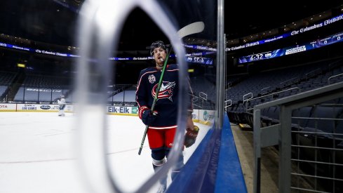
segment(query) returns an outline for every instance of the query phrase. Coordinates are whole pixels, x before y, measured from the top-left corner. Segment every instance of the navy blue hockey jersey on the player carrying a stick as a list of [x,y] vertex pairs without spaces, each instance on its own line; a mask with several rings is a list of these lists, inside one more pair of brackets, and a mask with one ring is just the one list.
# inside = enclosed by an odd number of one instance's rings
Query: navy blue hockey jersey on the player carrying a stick
[[[154,107],[159,115],[149,128],[164,129],[177,126],[178,72],[177,65],[167,65],[166,72],[163,74],[158,100]],[[136,101],[140,109],[138,113],[146,108],[151,109],[160,77],[161,70],[156,69],[156,67],[148,67],[140,72],[136,91]]]

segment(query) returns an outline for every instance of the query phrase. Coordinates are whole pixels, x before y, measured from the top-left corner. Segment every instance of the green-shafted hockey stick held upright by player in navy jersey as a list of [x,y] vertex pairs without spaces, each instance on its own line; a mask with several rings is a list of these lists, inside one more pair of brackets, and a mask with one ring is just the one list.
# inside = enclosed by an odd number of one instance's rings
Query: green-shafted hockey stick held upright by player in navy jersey
[[[177,34],[180,37],[180,39],[182,39],[184,36],[203,32],[204,28],[205,28],[205,25],[203,24],[203,22],[193,22],[189,25],[182,27],[179,31],[177,31]],[[159,91],[160,91],[160,88],[162,85],[163,75],[164,75],[164,72],[166,71],[166,66],[167,66],[167,62],[168,62],[168,58],[169,58],[169,55],[171,53],[171,50],[172,50],[172,47],[170,47],[170,50],[169,50],[167,57],[166,57],[166,60],[163,63],[163,68],[162,68],[161,76],[159,79],[159,84],[157,85],[154,101],[152,102],[152,108],[150,109],[151,112],[154,112],[156,101],[159,98]],[[140,143],[140,149],[138,150],[139,155],[142,152],[142,148],[144,145],[145,137],[147,136],[148,128],[149,128],[149,126],[146,125],[145,130],[144,130],[144,134],[143,134],[143,138],[142,138],[142,142]]]

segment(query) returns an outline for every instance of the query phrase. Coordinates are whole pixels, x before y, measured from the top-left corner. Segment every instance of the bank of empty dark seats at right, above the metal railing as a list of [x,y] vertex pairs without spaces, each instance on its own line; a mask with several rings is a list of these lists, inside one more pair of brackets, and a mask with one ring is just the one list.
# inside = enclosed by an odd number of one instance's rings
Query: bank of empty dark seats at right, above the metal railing
[[[330,64],[334,64],[331,65]],[[338,65],[337,65],[338,64]],[[226,100],[243,102],[246,109],[262,102],[284,98],[296,93],[343,81],[343,61],[276,69],[249,76],[227,89]]]

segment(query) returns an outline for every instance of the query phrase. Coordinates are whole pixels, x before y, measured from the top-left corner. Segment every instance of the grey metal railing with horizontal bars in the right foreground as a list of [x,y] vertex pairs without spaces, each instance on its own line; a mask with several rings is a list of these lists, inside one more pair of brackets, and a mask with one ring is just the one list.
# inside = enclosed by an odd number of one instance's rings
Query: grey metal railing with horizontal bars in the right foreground
[[[334,129],[330,133],[320,131],[320,128],[317,128],[318,124],[315,124],[315,128],[311,130],[292,123],[292,119],[308,119],[308,117],[292,117],[292,112],[295,110],[342,98],[342,96],[343,82],[340,82],[255,105],[253,112],[255,163],[253,192],[261,191],[261,149],[274,145],[278,145],[279,156],[278,192],[287,193],[291,190],[292,192],[339,192],[342,190],[343,176],[339,171],[343,170],[343,147],[338,147],[336,144],[339,142],[339,135],[342,135],[339,133],[342,132],[342,128],[339,128],[339,132]],[[278,124],[262,127],[262,109],[274,106],[280,109]],[[316,121],[323,119],[325,118],[316,117]],[[335,121],[341,119],[342,117]],[[302,143],[300,143],[300,139],[302,139]],[[325,141],[324,139],[327,141],[321,144],[320,142]],[[328,154],[321,154],[322,152],[318,149],[325,149]],[[305,156],[306,153],[307,156]],[[300,167],[303,164],[312,166],[310,172],[303,171],[303,168]],[[330,171],[329,174],[328,171]],[[323,172],[326,175],[323,175]]]

